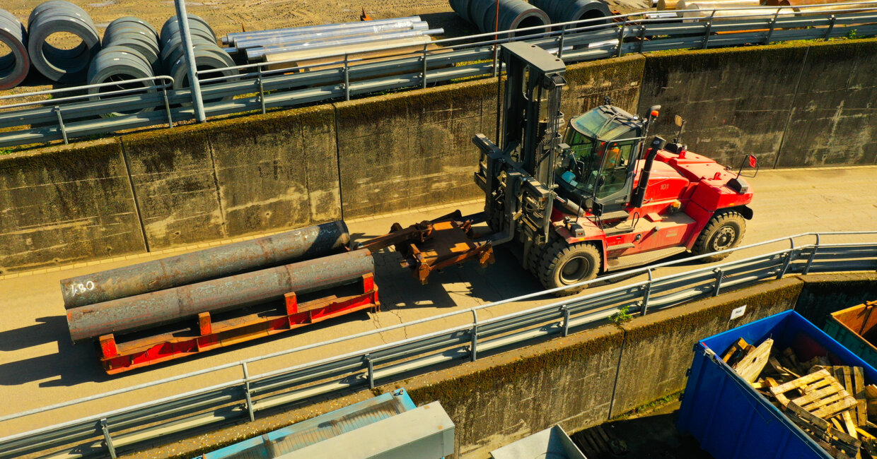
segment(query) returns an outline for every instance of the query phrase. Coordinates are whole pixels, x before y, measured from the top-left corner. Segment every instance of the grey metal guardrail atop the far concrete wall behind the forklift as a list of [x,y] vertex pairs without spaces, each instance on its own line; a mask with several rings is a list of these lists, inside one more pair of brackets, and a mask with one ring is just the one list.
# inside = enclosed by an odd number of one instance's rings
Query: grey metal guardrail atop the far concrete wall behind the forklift
[[[877,34],[877,2],[797,7],[748,7],[718,9],[705,18],[655,18],[652,11],[624,14],[605,19],[586,19],[555,25],[491,32],[454,39],[440,39],[424,45],[417,53],[403,53],[393,59],[350,59],[297,68],[276,69],[284,62],[229,67],[246,74],[217,77],[227,69],[200,71],[204,110],[208,117],[289,107],[311,102],[349,100],[399,88],[425,88],[463,78],[496,76],[497,46],[525,40],[546,48],[567,63],[618,57],[628,53],[769,44],[800,39],[831,39],[851,32],[858,36]],[[727,11],[734,11],[728,14]],[[751,14],[747,11],[764,11]],[[684,12],[684,11],[679,11]],[[695,12],[694,10],[690,12]],[[521,36],[522,34],[528,34]],[[516,36],[517,35],[517,36]],[[432,49],[440,46],[438,49]],[[287,62],[289,63],[289,62]],[[355,64],[355,65],[352,65]],[[161,78],[161,77],[157,77]],[[89,87],[63,89],[84,92]],[[30,93],[0,97],[39,95]],[[153,126],[195,119],[188,88],[165,90],[161,94],[104,93],[100,100],[49,100],[43,106],[0,105],[0,147],[43,143],[53,140]],[[36,104],[36,103],[35,103]],[[123,109],[149,109],[107,117]],[[63,113],[63,117],[61,117]]]

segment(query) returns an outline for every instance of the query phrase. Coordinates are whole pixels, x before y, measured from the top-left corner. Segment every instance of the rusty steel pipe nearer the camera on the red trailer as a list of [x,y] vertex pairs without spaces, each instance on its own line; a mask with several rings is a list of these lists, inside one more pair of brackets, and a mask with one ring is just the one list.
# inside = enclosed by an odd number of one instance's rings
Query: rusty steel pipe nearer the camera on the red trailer
[[73,342],[110,333],[125,333],[194,319],[200,313],[220,313],[281,300],[286,293],[316,292],[353,283],[374,273],[367,250],[282,265],[237,276],[208,280],[68,309]]

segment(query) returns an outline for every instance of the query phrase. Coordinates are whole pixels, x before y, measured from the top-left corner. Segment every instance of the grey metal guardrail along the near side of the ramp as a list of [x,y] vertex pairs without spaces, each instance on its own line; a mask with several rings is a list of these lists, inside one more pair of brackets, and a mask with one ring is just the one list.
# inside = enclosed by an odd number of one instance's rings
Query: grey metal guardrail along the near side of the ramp
[[[48,453],[67,457],[107,454],[115,457],[117,448],[130,447],[162,435],[179,434],[207,426],[219,427],[247,419],[255,420],[256,413],[272,408],[296,406],[339,392],[374,388],[378,381],[389,383],[454,362],[474,361],[479,353],[524,346],[537,338],[566,336],[574,328],[603,321],[613,314],[618,314],[619,311],[645,315],[690,300],[717,296],[731,288],[752,286],[766,279],[781,279],[786,274],[877,270],[877,241],[825,244],[824,237],[832,235],[845,237],[877,235],[877,231],[804,233],[782,237],[724,252],[746,251],[768,244],[788,243],[788,248],[664,277],[656,277],[655,274],[667,266],[688,264],[692,260],[709,255],[683,258],[629,272],[620,272],[582,284],[590,285],[631,277],[637,279],[636,276],[645,279],[607,291],[563,298],[544,306],[498,317],[480,319],[479,313],[487,313],[503,304],[543,296],[559,289],[531,293],[488,305],[317,342],[233,364],[224,364],[152,383],[3,416],[0,417],[0,426],[27,416],[57,413],[65,407],[84,406],[83,404],[119,394],[143,389],[154,390],[184,379],[204,375],[219,378],[220,371],[240,369],[239,377],[222,382],[211,378],[213,385],[210,387],[0,438],[0,458]],[[796,244],[796,239],[802,237],[815,237],[816,240],[813,244]],[[326,349],[332,344],[353,342],[368,335],[384,334],[399,328],[445,320],[452,316],[465,318],[467,315],[472,316],[472,321],[456,327],[306,364],[296,364],[281,370],[250,374],[249,365],[261,360],[287,357],[304,350]]]

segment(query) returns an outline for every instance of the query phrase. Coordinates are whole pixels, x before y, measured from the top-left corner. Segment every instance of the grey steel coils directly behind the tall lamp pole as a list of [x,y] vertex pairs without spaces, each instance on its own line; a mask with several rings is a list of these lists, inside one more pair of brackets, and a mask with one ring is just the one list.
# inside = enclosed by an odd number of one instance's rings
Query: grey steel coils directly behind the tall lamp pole
[[[235,63],[232,57],[217,46],[216,33],[213,32],[207,21],[194,14],[189,14],[188,20],[197,69],[234,67]],[[189,66],[186,62],[186,50],[182,46],[182,34],[176,16],[169,18],[161,26],[160,40],[161,62],[164,64],[165,72],[174,78],[174,88],[189,88]],[[208,74],[205,78],[220,75],[234,76],[235,74],[238,74],[235,70],[225,70],[217,74]]]

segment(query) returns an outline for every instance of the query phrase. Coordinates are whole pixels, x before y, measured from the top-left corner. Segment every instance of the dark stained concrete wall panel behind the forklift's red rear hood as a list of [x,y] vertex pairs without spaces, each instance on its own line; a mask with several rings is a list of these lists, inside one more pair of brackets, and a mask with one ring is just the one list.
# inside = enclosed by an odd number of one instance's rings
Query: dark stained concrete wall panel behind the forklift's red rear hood
[[683,143],[720,164],[736,168],[751,153],[773,166],[806,54],[802,46],[648,54],[638,114],[660,105],[652,133],[667,140],[674,115],[684,117]]

